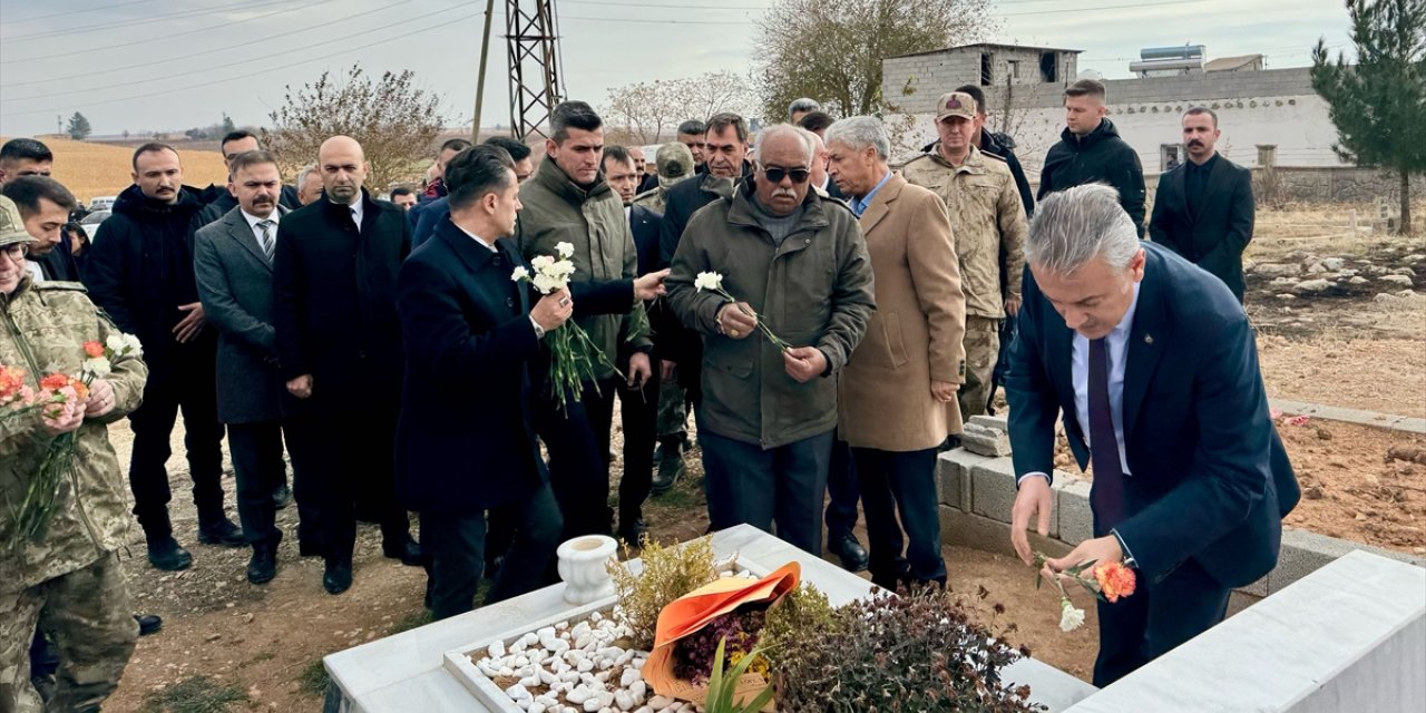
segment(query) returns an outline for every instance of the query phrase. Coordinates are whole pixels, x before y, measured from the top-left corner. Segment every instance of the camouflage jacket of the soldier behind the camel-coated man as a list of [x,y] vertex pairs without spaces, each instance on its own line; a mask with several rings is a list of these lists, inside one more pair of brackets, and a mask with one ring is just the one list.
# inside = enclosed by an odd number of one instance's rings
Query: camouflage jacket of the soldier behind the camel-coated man
[[955,167],[941,157],[937,144],[908,161],[901,175],[945,201],[961,258],[965,314],[1005,317],[1005,299],[1020,297],[1027,232],[1025,208],[1010,167],[975,147]]

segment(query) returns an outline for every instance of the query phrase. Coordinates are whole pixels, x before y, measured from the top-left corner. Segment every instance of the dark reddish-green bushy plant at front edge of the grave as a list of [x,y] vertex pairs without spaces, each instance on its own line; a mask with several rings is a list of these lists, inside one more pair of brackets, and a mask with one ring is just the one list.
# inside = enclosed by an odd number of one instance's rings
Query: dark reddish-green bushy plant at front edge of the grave
[[799,637],[774,669],[779,712],[1044,710],[1028,686],[1001,682],[1020,653],[934,589],[853,602],[833,626]]

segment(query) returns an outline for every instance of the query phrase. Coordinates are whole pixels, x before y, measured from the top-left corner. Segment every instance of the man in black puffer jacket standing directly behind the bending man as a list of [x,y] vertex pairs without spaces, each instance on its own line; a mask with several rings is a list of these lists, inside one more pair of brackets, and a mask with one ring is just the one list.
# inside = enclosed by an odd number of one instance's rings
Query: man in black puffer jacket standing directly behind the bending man
[[1119,191],[1119,205],[1142,238],[1144,167],[1139,154],[1119,138],[1119,131],[1104,114],[1104,84],[1079,80],[1065,90],[1065,130],[1045,154],[1037,198],[1042,201],[1074,185],[1107,183]]

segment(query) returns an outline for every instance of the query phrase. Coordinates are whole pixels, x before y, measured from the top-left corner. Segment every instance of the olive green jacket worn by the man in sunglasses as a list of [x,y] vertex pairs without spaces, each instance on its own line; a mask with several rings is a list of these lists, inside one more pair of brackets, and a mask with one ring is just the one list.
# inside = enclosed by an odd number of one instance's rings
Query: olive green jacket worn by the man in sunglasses
[[[807,191],[801,220],[774,245],[752,205],[753,180],[733,198],[699,208],[683,230],[665,282],[679,319],[703,335],[700,428],[764,449],[831,431],[837,378],[861,342],[876,309],[871,258],[856,215],[838,200]],[[726,301],[699,291],[699,272],[723,275],[723,289],[747,302],[773,334],[793,347],[816,347],[827,372],[799,384],[781,351],[761,332],[724,337],[717,314]]]

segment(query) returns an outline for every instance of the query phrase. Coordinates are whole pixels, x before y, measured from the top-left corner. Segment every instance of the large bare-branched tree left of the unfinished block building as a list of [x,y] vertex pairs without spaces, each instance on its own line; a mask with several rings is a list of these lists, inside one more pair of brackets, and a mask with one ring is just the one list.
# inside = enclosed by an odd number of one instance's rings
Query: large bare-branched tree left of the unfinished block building
[[779,0],[759,21],[754,80],[769,120],[816,98],[836,116],[883,108],[881,60],[971,43],[994,29],[988,0]]

